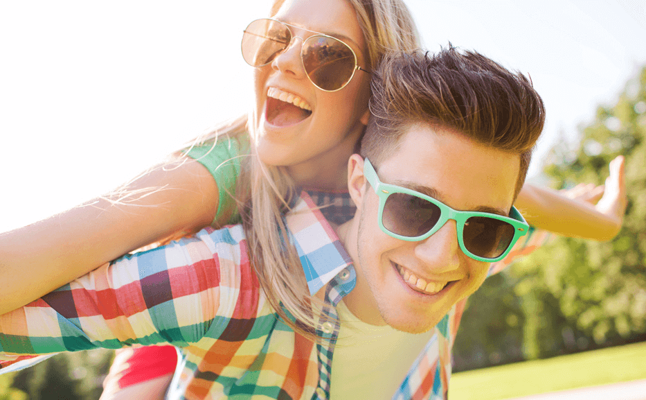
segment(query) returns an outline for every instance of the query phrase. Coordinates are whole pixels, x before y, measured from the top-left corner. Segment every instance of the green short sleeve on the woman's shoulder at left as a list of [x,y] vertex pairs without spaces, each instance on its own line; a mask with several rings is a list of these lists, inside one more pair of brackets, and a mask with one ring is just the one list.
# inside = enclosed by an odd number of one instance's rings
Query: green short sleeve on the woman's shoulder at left
[[[240,159],[237,157],[241,155],[246,146],[237,137],[233,139],[219,139],[216,143],[207,143],[200,146],[195,146],[186,151],[186,155],[195,159],[195,161],[204,165],[208,172],[213,175],[215,184],[217,184],[217,191],[219,193],[219,203],[217,205],[217,214],[213,223],[217,221],[227,207],[233,204],[233,197],[235,195],[235,182],[238,175],[240,175]],[[235,218],[237,211],[231,217]],[[233,221],[228,221],[233,222]]]

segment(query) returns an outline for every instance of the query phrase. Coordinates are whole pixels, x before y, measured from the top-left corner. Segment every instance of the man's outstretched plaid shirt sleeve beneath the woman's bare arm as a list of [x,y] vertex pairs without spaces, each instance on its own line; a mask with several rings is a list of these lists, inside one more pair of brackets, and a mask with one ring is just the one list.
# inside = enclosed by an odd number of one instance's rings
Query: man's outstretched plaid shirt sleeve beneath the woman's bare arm
[[160,342],[183,347],[213,336],[221,329],[209,332],[212,325],[244,307],[237,298],[251,279],[244,249],[239,225],[208,228],[105,264],[0,315],[0,359]]

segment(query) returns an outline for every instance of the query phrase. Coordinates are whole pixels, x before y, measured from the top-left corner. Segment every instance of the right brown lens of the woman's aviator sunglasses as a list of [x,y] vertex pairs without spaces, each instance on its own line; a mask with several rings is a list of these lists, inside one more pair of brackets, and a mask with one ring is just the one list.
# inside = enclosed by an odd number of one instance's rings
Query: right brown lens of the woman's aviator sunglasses
[[309,37],[303,44],[302,57],[309,79],[323,90],[345,86],[357,64],[350,47],[333,37]]

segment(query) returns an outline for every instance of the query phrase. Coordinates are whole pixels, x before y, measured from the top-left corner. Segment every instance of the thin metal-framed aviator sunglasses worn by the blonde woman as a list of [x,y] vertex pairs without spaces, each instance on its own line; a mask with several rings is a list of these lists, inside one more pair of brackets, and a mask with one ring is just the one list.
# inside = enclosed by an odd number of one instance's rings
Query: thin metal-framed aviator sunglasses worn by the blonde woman
[[[357,64],[357,54],[348,44],[336,37],[314,31],[307,39],[294,36],[289,27],[275,19],[256,19],[246,27],[242,34],[242,57],[251,67],[262,67],[273,61],[282,51],[285,51],[294,39],[300,39],[300,60],[307,77],[325,92],[336,92],[343,89],[355,76],[355,71],[366,69]],[[369,72],[368,72],[369,73]]]

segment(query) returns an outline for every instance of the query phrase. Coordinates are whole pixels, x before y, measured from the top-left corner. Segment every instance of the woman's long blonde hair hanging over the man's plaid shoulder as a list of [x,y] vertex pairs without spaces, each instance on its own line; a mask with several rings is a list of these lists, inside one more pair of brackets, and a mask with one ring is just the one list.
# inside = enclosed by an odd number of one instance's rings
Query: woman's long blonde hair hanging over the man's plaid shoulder
[[[366,41],[366,60],[375,67],[388,51],[411,52],[420,46],[415,22],[401,0],[348,0],[357,13]],[[276,15],[285,0],[274,1],[270,15]],[[253,144],[253,127],[242,116],[224,128],[210,132],[201,142],[221,137],[235,138],[251,132],[251,155],[242,162],[235,198],[249,245],[253,269],[267,301],[294,331],[312,340],[318,322],[326,319],[323,304],[309,295],[296,250],[283,239],[282,216],[294,198],[294,182],[287,170],[260,161]]]

